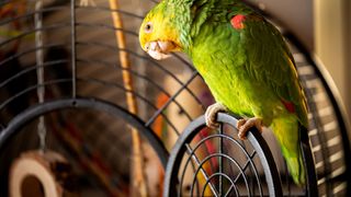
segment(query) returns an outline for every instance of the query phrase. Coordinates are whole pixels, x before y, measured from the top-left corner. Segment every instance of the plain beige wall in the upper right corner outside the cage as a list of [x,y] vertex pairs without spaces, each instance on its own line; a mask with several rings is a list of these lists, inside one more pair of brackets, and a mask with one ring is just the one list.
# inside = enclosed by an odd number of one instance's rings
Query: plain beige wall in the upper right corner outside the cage
[[351,114],[351,3],[349,0],[315,0],[315,51],[330,72]]

